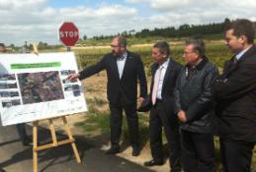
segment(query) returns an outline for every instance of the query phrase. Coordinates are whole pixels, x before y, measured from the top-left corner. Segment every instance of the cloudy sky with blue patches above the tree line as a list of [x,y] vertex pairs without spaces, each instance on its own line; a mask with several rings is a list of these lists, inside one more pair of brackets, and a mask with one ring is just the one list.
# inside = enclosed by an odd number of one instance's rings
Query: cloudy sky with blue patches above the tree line
[[256,21],[255,9],[255,0],[0,0],[0,42],[60,44],[63,22],[73,22],[82,38],[225,18]]

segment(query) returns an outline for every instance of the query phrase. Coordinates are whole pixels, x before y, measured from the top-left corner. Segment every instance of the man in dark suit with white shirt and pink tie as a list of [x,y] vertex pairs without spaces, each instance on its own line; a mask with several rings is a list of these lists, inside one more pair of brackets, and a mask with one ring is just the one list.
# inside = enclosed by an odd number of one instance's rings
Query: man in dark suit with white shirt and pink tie
[[152,81],[150,86],[149,133],[153,159],[144,162],[145,166],[162,165],[164,153],[162,146],[162,127],[169,147],[172,172],[181,171],[179,125],[174,114],[173,88],[181,65],[170,58],[170,47],[165,41],[159,41],[152,48]]

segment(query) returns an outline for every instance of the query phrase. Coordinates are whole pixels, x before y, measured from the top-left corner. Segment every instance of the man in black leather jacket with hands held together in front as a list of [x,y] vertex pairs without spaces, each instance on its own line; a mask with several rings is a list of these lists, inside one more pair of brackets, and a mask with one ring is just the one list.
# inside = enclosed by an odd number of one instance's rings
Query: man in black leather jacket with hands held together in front
[[181,122],[185,172],[213,172],[213,82],[217,69],[205,56],[205,42],[186,40],[187,65],[176,82],[175,112]]

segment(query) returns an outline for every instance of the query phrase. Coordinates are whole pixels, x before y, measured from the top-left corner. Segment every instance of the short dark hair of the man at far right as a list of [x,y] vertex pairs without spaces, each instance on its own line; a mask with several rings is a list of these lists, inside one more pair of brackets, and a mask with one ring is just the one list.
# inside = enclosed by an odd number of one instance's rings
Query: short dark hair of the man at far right
[[248,43],[253,43],[254,40],[254,27],[253,23],[246,19],[239,19],[231,22],[226,26],[225,31],[228,29],[233,29],[233,35],[239,37],[245,35],[247,37]]

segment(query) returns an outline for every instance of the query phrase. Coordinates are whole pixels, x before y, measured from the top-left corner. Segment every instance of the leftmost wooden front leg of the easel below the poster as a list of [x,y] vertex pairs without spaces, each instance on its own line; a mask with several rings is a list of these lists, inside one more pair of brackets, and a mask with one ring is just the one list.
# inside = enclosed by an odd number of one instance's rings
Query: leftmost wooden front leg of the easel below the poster
[[33,167],[34,172],[38,172],[38,125],[39,122],[33,122]]

